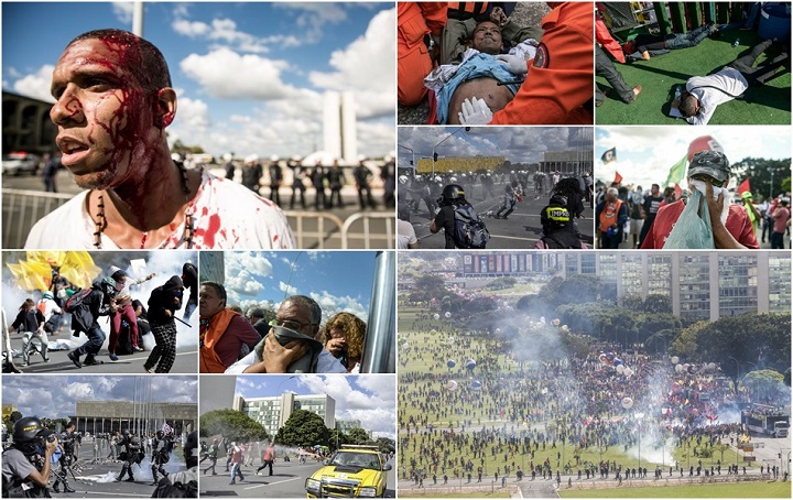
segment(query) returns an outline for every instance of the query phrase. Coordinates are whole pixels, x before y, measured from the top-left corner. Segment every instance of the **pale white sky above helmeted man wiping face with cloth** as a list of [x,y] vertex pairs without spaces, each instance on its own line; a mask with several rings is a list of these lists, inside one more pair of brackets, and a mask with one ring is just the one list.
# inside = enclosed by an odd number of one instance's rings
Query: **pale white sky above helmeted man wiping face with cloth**
[[[598,127],[595,177],[610,184],[615,172],[619,172],[623,184],[649,189],[651,184],[666,181],[670,169],[686,154],[691,141],[702,135],[715,138],[731,163],[750,156],[791,157],[789,127]],[[600,156],[611,148],[617,148],[617,161],[604,165]]]

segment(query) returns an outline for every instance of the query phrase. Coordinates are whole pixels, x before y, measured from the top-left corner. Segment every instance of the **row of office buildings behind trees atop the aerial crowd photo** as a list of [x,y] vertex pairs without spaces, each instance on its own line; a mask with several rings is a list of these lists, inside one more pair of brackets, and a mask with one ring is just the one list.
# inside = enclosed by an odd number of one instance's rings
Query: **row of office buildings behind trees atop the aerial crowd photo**
[[597,275],[617,298],[670,297],[678,316],[716,320],[748,312],[790,313],[791,254],[784,251],[463,252],[457,276]]

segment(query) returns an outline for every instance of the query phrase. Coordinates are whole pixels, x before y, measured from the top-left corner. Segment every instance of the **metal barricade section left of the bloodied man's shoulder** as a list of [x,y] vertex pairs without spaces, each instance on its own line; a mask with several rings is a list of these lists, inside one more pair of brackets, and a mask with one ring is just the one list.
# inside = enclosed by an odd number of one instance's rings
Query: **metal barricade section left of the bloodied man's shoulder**
[[23,248],[36,220],[73,197],[69,194],[41,191],[2,189],[2,248]]

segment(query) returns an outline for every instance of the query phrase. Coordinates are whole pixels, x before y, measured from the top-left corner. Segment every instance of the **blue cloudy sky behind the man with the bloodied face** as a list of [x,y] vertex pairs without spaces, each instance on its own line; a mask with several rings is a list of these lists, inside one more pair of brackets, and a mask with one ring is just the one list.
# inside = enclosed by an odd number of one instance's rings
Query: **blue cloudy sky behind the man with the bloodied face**
[[[393,3],[152,2],[143,19],[180,97],[171,140],[216,155],[307,155],[323,145],[324,93],[354,90],[358,151],[393,151]],[[68,42],[131,20],[130,2],[3,2],[3,89],[52,101]]]

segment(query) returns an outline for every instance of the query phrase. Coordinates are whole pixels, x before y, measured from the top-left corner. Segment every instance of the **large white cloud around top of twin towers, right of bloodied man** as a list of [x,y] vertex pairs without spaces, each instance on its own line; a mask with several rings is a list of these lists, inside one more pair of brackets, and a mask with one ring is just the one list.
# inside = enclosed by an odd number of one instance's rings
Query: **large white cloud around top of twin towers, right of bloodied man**
[[328,90],[352,90],[359,118],[393,115],[395,9],[378,12],[366,33],[330,55],[333,73],[311,72],[312,84]]

